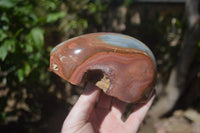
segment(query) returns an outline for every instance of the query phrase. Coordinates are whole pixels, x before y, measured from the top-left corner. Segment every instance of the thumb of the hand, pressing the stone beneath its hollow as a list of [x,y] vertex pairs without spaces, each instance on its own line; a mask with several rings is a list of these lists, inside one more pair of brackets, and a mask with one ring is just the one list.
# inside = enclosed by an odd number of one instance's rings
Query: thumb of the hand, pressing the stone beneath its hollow
[[100,90],[97,87],[87,84],[84,93],[79,97],[78,101],[65,119],[62,133],[69,131],[76,132],[86,124],[94,109],[99,93]]

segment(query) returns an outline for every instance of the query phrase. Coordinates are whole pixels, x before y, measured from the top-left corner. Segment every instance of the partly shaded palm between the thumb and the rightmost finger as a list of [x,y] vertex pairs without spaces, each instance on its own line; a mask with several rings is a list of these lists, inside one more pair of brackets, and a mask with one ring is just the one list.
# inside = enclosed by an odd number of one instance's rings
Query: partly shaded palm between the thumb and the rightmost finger
[[100,101],[89,119],[95,132],[127,132],[128,128],[121,120],[124,107],[125,103],[101,93]]

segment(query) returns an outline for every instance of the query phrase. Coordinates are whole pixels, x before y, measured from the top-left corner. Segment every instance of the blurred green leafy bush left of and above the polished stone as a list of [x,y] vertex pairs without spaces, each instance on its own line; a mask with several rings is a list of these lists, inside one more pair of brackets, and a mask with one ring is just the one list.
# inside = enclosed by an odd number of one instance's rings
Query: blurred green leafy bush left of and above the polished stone
[[[20,110],[32,116],[40,111],[36,99],[52,84],[48,67],[55,44],[49,40],[62,39],[51,32],[77,36],[88,27],[85,14],[98,14],[100,24],[105,9],[99,0],[0,0],[0,123],[10,115],[23,115]],[[10,99],[16,102],[11,107]],[[21,101],[27,107],[17,109]]]

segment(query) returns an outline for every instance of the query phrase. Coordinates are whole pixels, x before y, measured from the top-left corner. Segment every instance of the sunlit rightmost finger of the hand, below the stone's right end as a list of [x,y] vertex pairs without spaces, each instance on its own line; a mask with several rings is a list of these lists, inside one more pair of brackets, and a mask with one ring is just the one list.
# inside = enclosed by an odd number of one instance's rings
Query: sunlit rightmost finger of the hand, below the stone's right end
[[140,109],[134,111],[126,120],[125,125],[131,132],[134,133],[137,132],[141,122],[144,120],[144,117],[147,114],[149,108],[151,107],[154,99],[155,99],[155,94],[146,104],[144,104]]

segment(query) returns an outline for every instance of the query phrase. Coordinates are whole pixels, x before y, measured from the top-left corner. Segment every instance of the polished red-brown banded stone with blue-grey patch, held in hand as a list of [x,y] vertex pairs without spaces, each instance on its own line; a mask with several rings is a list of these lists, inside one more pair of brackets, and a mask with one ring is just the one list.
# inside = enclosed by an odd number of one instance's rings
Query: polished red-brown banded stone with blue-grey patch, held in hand
[[92,33],[57,45],[50,69],[72,84],[92,82],[106,94],[136,103],[153,90],[156,62],[137,39],[116,33]]

